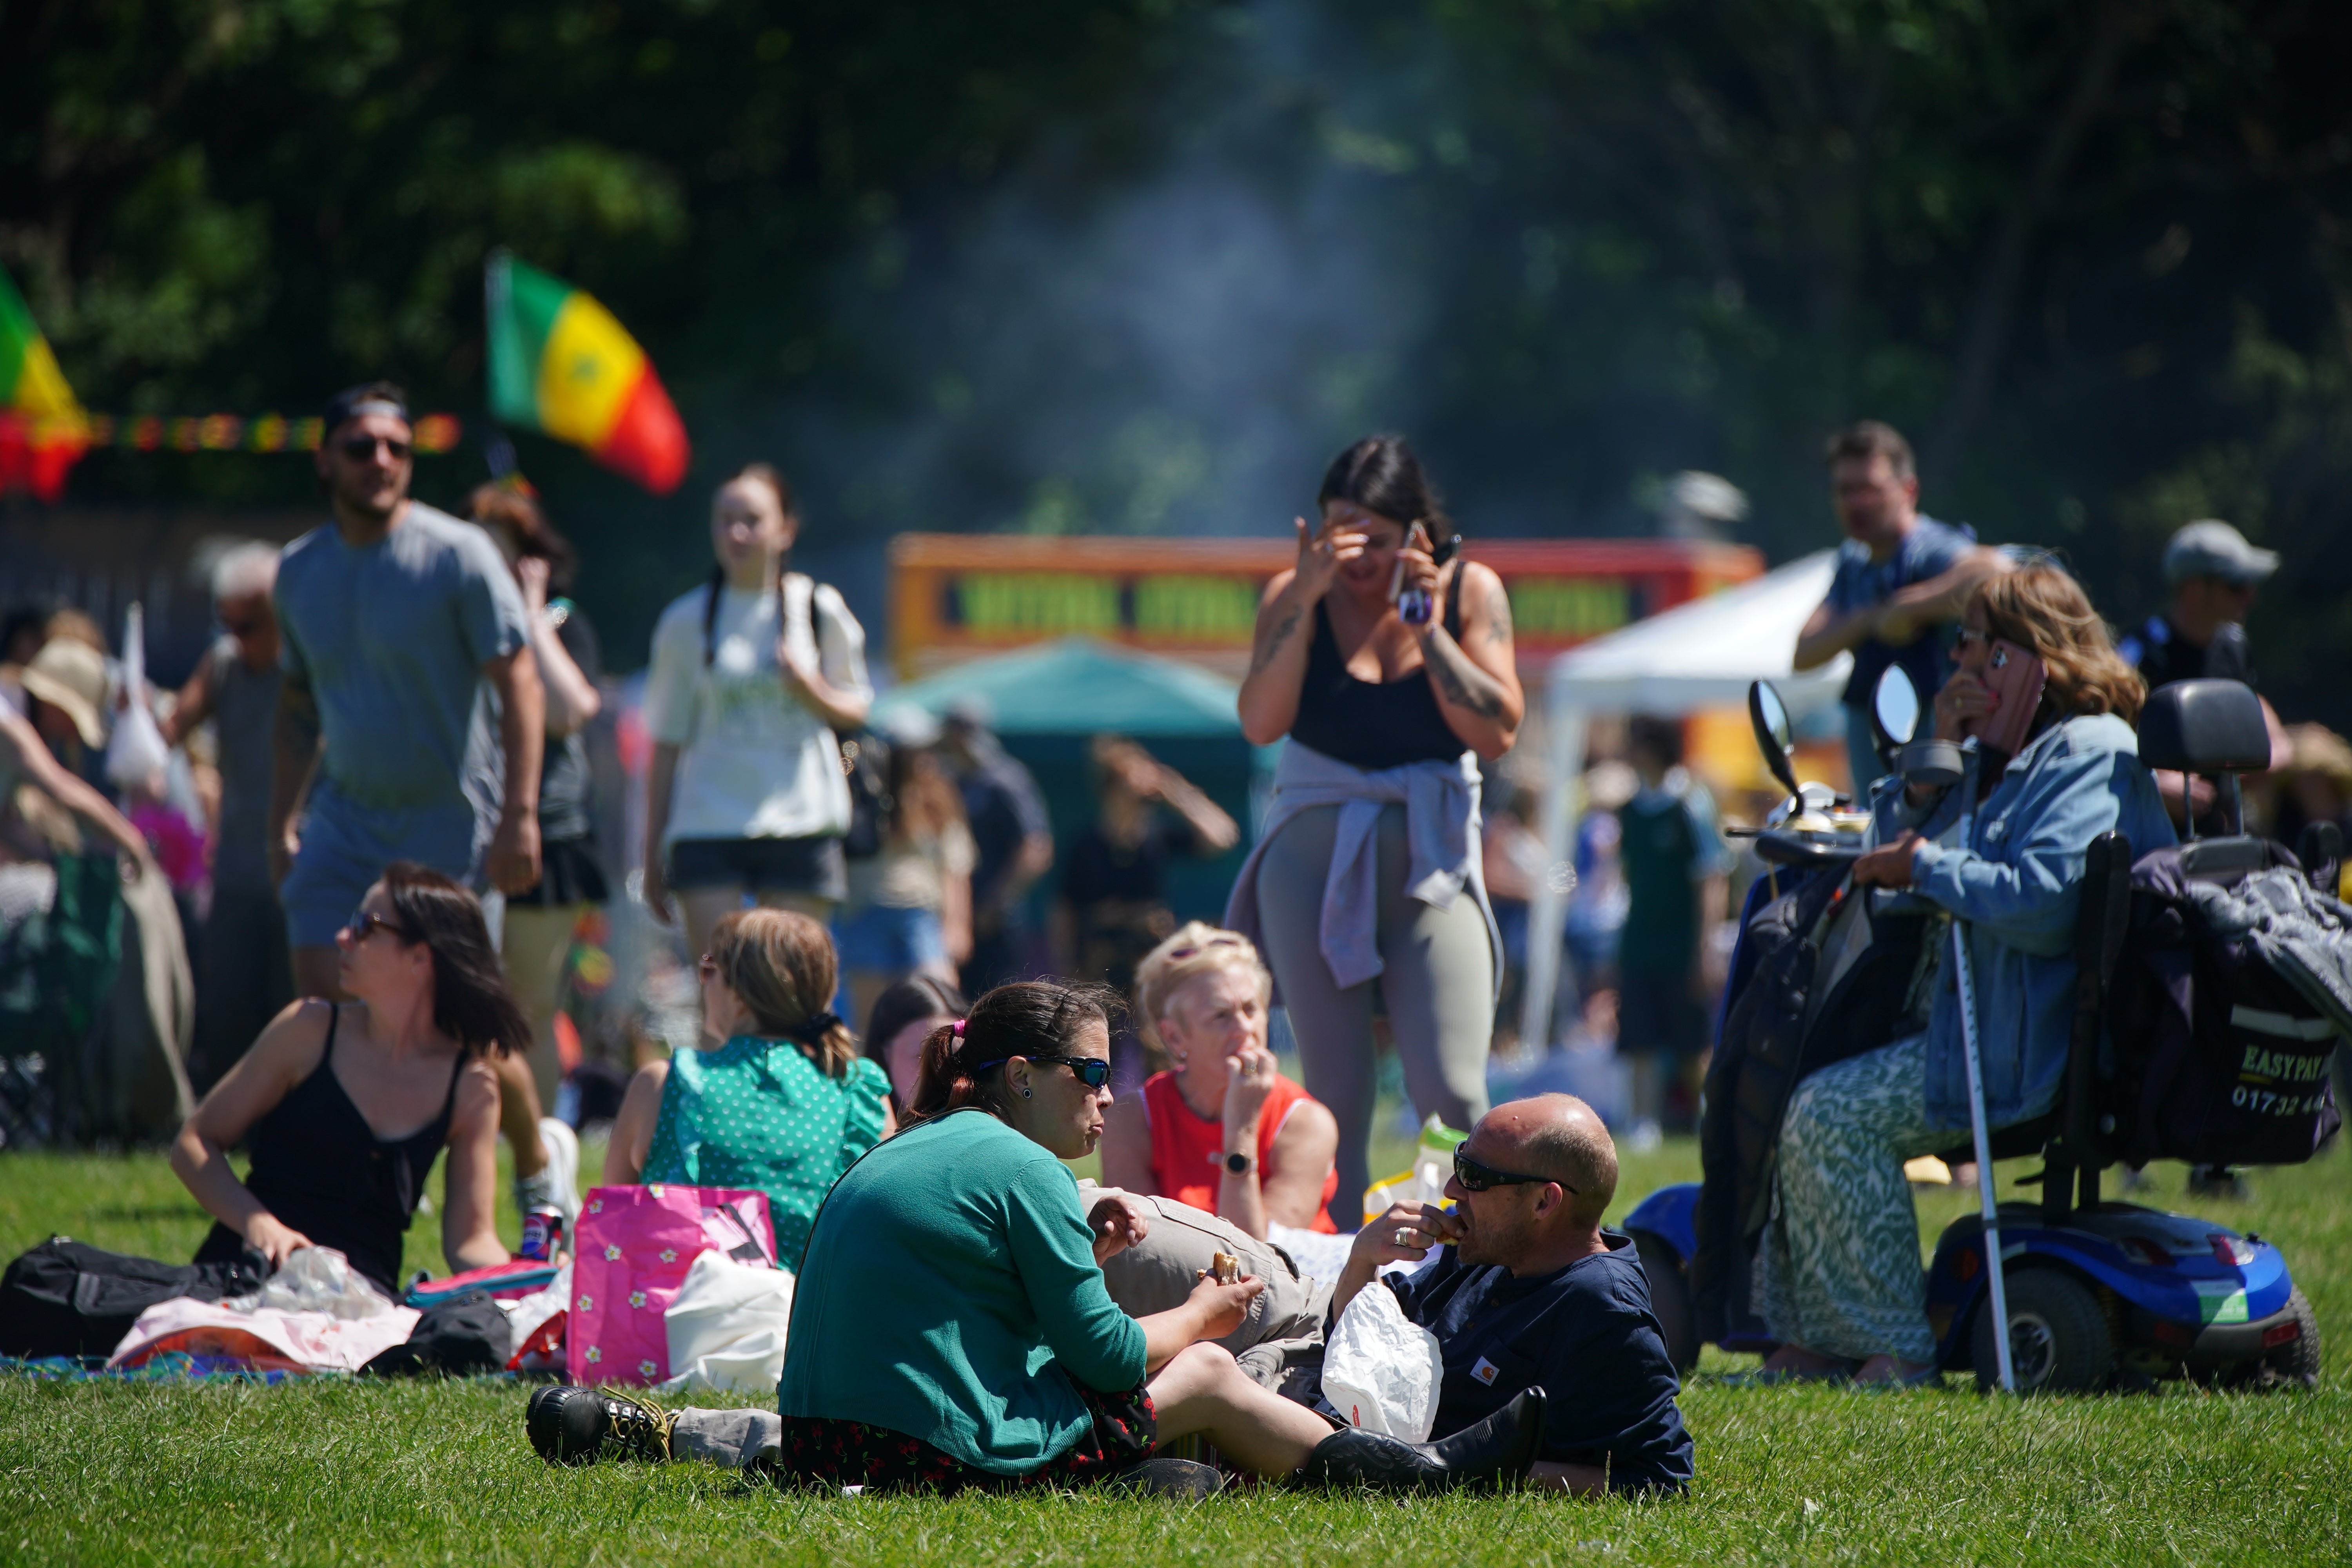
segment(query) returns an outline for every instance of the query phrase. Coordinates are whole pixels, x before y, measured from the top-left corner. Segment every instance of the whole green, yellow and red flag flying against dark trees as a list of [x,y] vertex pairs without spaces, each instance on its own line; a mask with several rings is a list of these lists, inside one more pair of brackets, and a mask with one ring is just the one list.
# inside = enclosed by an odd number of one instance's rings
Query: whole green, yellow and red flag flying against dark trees
[[612,310],[560,277],[489,254],[489,411],[543,430],[656,496],[687,477],[687,428],[654,362]]

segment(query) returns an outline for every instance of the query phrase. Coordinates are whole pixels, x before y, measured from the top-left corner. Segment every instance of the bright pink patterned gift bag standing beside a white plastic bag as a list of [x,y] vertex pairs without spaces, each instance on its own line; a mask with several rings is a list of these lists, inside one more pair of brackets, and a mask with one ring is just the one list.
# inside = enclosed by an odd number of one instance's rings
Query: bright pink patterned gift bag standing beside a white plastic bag
[[581,1385],[670,1375],[663,1314],[706,1251],[776,1265],[764,1192],[731,1187],[590,1187],[572,1239],[564,1378]]

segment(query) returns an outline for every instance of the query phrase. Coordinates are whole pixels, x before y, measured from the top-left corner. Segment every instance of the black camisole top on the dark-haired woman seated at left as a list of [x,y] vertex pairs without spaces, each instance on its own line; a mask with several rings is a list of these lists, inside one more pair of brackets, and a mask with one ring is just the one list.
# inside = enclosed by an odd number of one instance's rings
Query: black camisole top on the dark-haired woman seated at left
[[[456,1074],[466,1070],[466,1056],[459,1053],[449,1067],[449,1093],[437,1117],[407,1138],[376,1138],[334,1077],[334,1030],[343,1009],[329,1006],[318,1067],[245,1135],[254,1154],[245,1187],[282,1225],[343,1253],[350,1267],[397,1300],[400,1241],[433,1159],[449,1143]],[[226,1262],[242,1253],[245,1237],[214,1225],[195,1260]]]

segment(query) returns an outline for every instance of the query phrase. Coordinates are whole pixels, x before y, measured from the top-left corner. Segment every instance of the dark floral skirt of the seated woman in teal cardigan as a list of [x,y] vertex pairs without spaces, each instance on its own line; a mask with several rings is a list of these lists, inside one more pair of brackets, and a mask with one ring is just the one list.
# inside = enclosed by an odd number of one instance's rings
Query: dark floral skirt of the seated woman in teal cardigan
[[1160,1418],[1152,1396],[1138,1382],[1124,1394],[1103,1394],[1073,1380],[1087,1401],[1094,1425],[1077,1443],[1021,1476],[964,1465],[920,1436],[868,1427],[861,1420],[830,1415],[783,1418],[783,1476],[814,1486],[920,1488],[960,1493],[967,1486],[1016,1490],[1025,1486],[1077,1486],[1101,1481],[1152,1458]]

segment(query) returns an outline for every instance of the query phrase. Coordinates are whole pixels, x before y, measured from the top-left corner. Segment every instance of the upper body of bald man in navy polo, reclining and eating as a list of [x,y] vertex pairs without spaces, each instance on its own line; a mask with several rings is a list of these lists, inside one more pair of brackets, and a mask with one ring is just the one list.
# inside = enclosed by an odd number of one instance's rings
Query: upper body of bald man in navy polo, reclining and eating
[[1691,1481],[1691,1434],[1665,1331],[1632,1239],[1602,1229],[1616,1145],[1573,1095],[1496,1105],[1454,1157],[1454,1211],[1397,1204],[1367,1225],[1331,1293],[1331,1321],[1388,1262],[1435,1262],[1383,1284],[1437,1335],[1444,1382],[1432,1439],[1543,1387],[1543,1453],[1529,1486],[1663,1490]]

